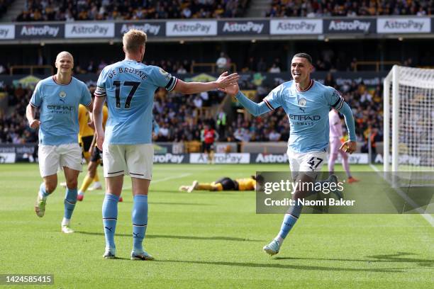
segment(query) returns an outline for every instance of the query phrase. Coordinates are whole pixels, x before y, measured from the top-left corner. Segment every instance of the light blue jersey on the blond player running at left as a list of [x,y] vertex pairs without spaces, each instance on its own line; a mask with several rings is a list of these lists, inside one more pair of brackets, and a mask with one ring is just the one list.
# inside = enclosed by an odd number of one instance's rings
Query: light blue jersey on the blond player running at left
[[38,82],[30,105],[40,108],[40,145],[78,143],[78,108],[91,104],[92,98],[84,82],[72,77],[69,84],[57,84],[54,77]]

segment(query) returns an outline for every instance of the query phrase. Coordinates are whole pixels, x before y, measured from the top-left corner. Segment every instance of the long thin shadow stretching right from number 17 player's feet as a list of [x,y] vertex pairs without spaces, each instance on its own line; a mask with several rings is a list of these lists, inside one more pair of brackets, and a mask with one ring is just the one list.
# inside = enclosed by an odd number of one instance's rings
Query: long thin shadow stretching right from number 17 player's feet
[[347,271],[347,272],[379,272],[379,273],[401,273],[400,268],[337,268],[330,266],[306,266],[306,265],[286,265],[270,263],[248,263],[248,262],[222,262],[222,261],[179,261],[179,260],[155,260],[155,262],[169,263],[193,263],[200,265],[221,265],[221,266],[239,266],[253,268],[277,268],[277,269],[294,269],[294,270],[311,270],[311,271]]

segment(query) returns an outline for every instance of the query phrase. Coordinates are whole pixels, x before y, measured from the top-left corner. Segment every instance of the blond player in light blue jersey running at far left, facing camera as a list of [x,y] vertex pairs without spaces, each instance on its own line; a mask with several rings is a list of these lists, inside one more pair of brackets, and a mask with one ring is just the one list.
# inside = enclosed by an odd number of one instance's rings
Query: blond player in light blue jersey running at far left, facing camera
[[[26,116],[30,128],[39,127],[39,171],[44,182],[36,200],[36,215],[43,217],[47,197],[57,187],[57,169],[62,167],[67,183],[62,232],[68,234],[74,232],[70,220],[77,202],[77,178],[82,171],[78,108],[81,103],[91,111],[92,99],[86,84],[72,77],[74,58],[69,52],[60,52],[55,66],[57,74],[36,85]],[[40,120],[35,119],[36,108],[40,109]]]

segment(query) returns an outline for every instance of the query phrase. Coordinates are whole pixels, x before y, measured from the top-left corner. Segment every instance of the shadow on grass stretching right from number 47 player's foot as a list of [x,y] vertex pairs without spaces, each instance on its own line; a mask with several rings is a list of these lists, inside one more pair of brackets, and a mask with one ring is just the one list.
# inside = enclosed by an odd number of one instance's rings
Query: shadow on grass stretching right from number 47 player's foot
[[370,263],[417,263],[418,266],[432,267],[434,260],[402,258],[401,256],[416,255],[413,253],[398,252],[396,254],[365,256],[367,259],[333,259],[333,258],[298,258],[298,257],[276,257],[275,260],[314,260],[314,261],[351,261]]

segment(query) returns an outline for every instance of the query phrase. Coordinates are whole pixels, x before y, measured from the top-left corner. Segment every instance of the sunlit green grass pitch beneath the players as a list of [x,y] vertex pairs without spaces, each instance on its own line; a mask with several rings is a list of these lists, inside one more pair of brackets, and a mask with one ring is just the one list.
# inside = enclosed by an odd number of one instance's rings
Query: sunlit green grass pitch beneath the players
[[[38,166],[1,164],[0,274],[54,274],[55,284],[43,288],[434,288],[434,229],[421,215],[302,215],[280,253],[270,257],[262,246],[277,234],[282,215],[255,214],[254,192],[177,191],[194,179],[286,169],[155,165],[144,244],[156,260],[130,261],[129,179],[118,205],[119,259],[104,260],[102,191],[88,192],[77,204],[76,232],[65,235],[64,189],[48,198],[39,218],[33,208]],[[369,188],[369,180],[354,186]]]

